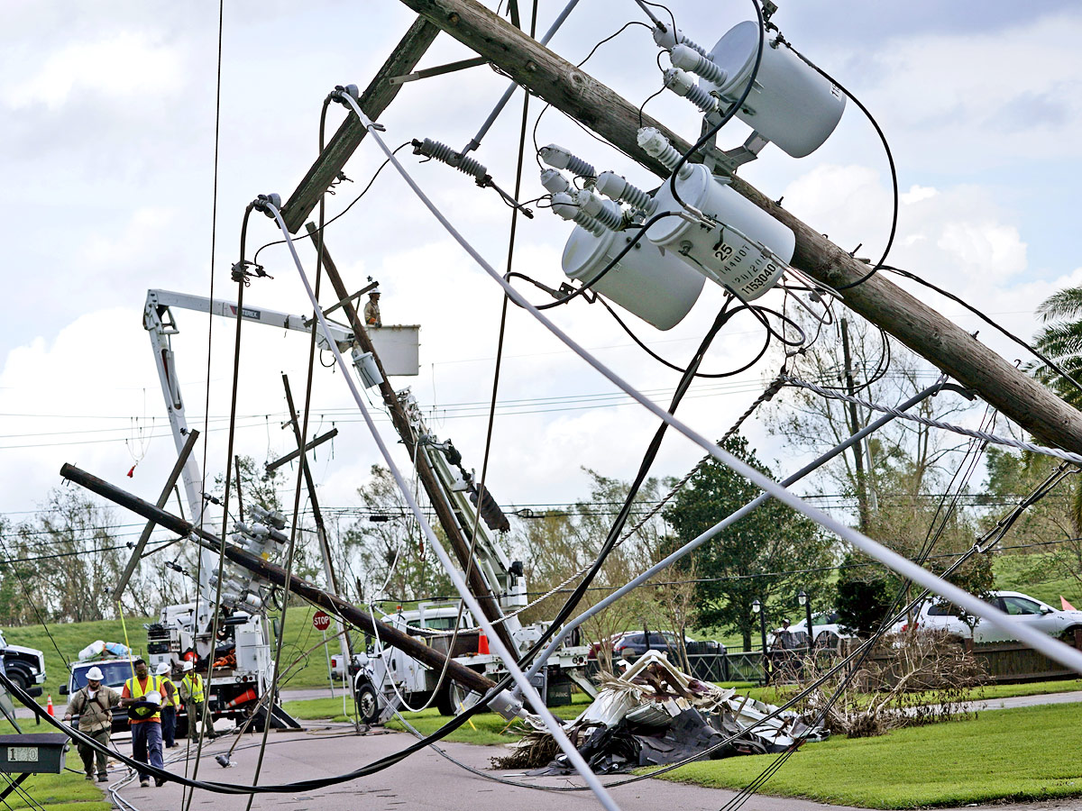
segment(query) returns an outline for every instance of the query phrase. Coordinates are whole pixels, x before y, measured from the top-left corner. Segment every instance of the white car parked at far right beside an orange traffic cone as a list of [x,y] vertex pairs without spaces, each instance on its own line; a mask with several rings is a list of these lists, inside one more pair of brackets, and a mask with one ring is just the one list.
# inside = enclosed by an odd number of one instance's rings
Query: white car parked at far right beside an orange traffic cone
[[[1074,629],[1082,628],[1082,611],[1060,611],[1020,591],[992,591],[989,602],[1008,614],[1014,622],[1053,637],[1073,638]],[[935,598],[921,604],[913,622],[902,620],[895,623],[890,630],[900,634],[912,630],[946,630],[978,643],[1014,639],[1007,631],[979,619],[971,627],[962,619],[958,607]]]

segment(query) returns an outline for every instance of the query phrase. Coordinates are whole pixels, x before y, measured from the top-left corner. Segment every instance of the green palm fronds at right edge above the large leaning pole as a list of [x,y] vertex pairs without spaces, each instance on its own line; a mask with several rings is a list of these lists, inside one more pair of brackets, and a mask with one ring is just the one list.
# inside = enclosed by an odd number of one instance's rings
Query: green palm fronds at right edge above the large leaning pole
[[1033,336],[1034,346],[1070,380],[1047,363],[1027,367],[1034,377],[1074,408],[1082,409],[1082,287],[1053,293],[1037,308],[1045,324]]

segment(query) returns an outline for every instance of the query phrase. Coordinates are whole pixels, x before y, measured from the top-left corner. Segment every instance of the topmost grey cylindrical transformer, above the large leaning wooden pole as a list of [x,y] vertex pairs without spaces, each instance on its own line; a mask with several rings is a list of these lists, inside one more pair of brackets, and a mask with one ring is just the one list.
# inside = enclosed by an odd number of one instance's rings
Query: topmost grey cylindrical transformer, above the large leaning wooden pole
[[[735,102],[748,84],[757,52],[758,25],[740,23],[710,52],[711,61],[728,77],[725,83],[718,87],[705,79],[699,83]],[[804,63],[788,45],[773,48],[767,35],[755,84],[736,116],[786,154],[803,158],[830,137],[844,109],[841,88]]]

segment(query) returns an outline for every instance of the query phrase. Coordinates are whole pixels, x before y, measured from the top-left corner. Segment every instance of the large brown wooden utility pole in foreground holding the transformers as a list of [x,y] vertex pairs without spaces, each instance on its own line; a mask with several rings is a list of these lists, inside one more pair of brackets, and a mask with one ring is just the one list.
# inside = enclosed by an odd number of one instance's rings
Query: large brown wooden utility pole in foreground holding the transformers
[[[669,172],[638,146],[639,125],[657,128],[681,152],[690,149],[691,144],[659,121],[642,115],[635,105],[474,0],[401,2],[659,176],[668,177]],[[793,229],[793,267],[835,289],[858,281],[871,269],[740,177],[734,176],[731,187]],[[884,274],[841,295],[855,313],[976,391],[1041,441],[1082,453],[1082,413]]]

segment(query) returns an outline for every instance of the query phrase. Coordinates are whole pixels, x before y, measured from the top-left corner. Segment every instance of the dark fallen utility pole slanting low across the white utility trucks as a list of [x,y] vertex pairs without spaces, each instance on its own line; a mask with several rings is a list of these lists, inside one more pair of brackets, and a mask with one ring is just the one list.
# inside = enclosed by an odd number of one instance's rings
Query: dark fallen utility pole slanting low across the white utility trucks
[[308,602],[327,609],[327,611],[342,617],[351,625],[356,626],[359,630],[370,636],[378,635],[384,643],[405,651],[428,667],[434,669],[446,667],[447,677],[469,690],[484,694],[496,687],[493,681],[485,678],[479,673],[460,665],[453,659],[448,661],[444,654],[428,647],[421,639],[411,637],[398,630],[393,625],[374,623],[368,612],[346,602],[341,597],[329,594],[315,584],[298,577],[295,574],[287,575],[286,570],[280,566],[263,560],[263,558],[251,555],[232,544],[222,543],[222,540],[217,535],[188,523],[183,518],[177,518],[171,513],[167,513],[150,504],[150,502],[144,501],[126,490],[121,490],[104,479],[100,479],[85,470],[67,464],[61,467],[61,476],[122,507],[127,507],[148,521],[154,521],[171,532],[175,532],[182,536],[190,535],[200,546],[211,551],[223,553],[234,563],[242,566],[245,569],[254,572],[277,586],[281,586],[287,593],[299,595]]

